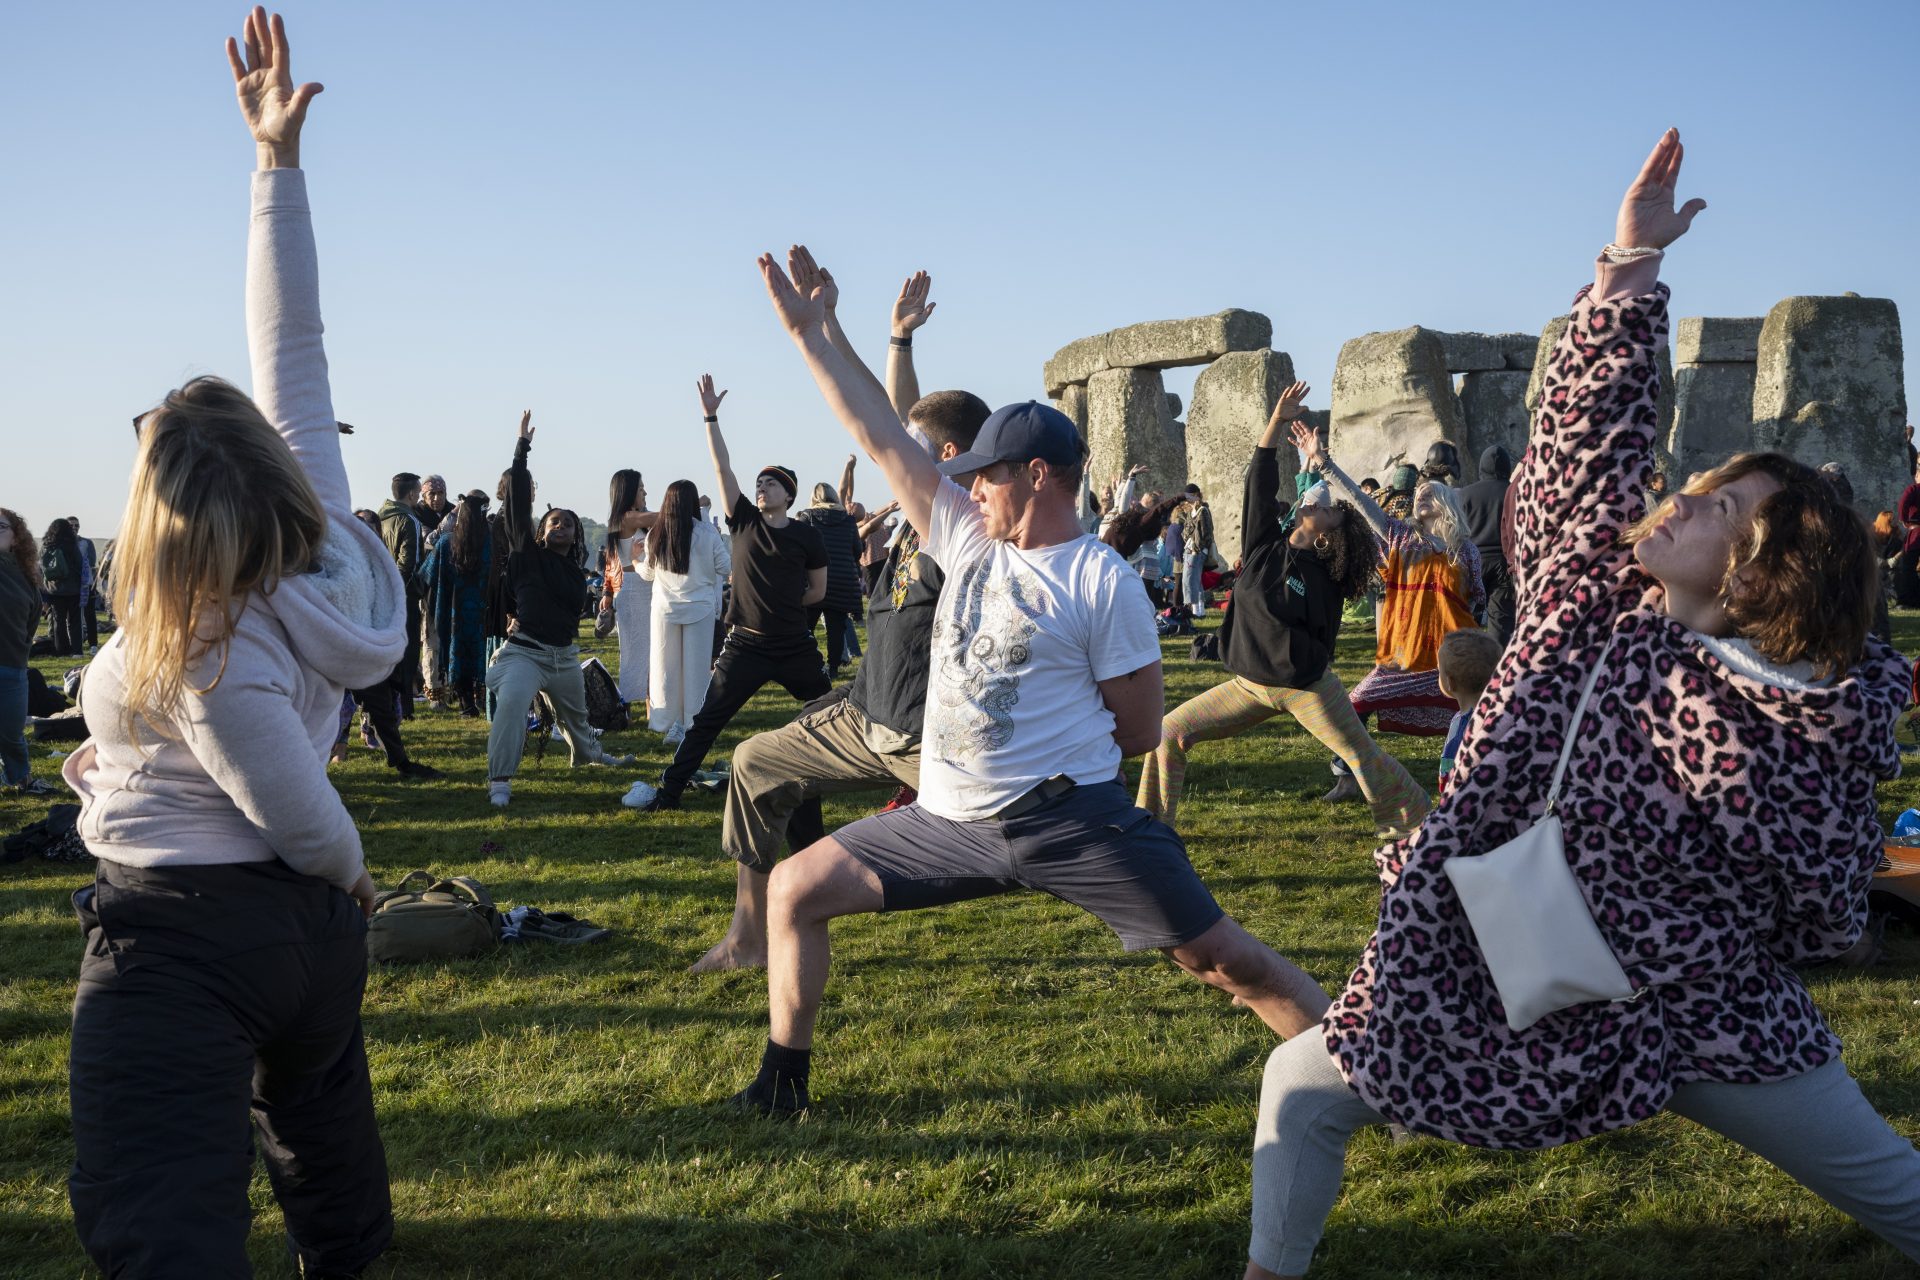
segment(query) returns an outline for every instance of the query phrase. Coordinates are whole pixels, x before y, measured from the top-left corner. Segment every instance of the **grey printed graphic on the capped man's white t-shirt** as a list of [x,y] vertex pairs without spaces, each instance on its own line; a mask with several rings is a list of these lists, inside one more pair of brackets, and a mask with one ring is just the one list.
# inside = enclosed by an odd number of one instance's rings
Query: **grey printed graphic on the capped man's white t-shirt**
[[1020,677],[1033,660],[1037,620],[1050,610],[1029,568],[995,581],[987,560],[968,564],[933,620],[933,681],[925,739],[962,762],[1014,741]]

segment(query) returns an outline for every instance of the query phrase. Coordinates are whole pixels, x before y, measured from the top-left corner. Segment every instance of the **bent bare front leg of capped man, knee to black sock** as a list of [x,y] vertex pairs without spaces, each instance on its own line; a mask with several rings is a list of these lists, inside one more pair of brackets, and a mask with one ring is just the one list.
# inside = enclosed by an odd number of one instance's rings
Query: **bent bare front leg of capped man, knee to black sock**
[[831,837],[774,867],[766,898],[766,1002],[774,1044],[789,1050],[814,1044],[814,1019],[828,988],[828,921],[877,912],[883,904],[879,877]]

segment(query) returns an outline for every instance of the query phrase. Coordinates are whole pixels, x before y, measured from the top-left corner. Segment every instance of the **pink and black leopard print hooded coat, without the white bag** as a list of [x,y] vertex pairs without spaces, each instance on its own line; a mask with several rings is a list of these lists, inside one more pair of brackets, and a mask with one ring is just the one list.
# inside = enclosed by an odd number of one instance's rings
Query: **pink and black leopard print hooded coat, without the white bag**
[[[1444,802],[1375,854],[1379,925],[1323,1023],[1354,1092],[1455,1142],[1557,1146],[1644,1121],[1688,1080],[1774,1080],[1839,1055],[1788,965],[1860,935],[1907,668],[1870,641],[1841,679],[1795,693],[1661,612],[1620,545],[1653,464],[1667,286],[1651,288],[1574,299],[1515,476],[1513,643]],[[1609,635],[1561,816],[1588,906],[1645,990],[1515,1032],[1440,864],[1538,821]]]

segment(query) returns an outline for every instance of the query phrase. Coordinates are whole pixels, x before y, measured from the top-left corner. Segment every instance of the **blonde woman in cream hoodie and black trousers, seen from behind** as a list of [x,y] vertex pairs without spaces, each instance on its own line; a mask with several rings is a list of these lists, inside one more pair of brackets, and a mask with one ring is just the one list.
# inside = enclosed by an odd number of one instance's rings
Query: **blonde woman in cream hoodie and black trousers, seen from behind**
[[73,1000],[81,1244],[108,1274],[244,1276],[252,1140],[305,1274],[394,1232],[361,1040],[372,879],[326,781],[346,689],[405,651],[405,595],[353,518],[326,384],[286,31],[227,42],[253,134],[257,399],[196,378],[140,420],[115,547],[121,629],[67,758],[100,860]]

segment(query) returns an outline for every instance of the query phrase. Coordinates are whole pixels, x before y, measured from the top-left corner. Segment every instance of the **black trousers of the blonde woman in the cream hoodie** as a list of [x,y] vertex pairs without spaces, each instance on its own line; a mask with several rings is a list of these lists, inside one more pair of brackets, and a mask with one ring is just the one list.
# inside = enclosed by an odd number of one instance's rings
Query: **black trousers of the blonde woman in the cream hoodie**
[[394,1236],[361,992],[367,921],[280,862],[123,867],[73,894],[73,1224],[108,1276],[250,1276],[259,1134],[288,1249],[357,1272]]

